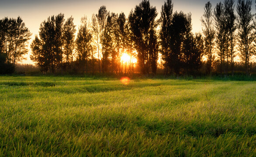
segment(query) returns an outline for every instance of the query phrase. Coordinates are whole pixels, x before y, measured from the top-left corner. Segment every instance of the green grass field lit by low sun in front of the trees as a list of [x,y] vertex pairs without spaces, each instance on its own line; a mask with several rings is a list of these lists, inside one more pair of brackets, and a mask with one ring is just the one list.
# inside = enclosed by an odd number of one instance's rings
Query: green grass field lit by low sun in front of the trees
[[256,82],[0,76],[2,156],[256,156]]

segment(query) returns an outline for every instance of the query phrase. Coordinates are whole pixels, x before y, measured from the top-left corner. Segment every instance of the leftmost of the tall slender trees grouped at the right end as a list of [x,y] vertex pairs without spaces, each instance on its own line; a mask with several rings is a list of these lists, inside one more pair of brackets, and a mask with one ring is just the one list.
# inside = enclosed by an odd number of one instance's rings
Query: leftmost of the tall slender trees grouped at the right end
[[203,35],[205,44],[205,53],[208,57],[208,71],[211,74],[213,62],[213,48],[214,48],[214,28],[212,19],[212,5],[207,2],[204,7],[203,17],[201,18],[203,25]]

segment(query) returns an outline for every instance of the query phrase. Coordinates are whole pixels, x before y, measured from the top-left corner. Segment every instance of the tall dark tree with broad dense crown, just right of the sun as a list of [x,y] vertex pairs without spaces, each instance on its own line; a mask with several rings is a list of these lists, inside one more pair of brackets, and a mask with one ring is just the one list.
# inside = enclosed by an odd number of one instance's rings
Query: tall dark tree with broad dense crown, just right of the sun
[[133,32],[133,41],[138,52],[137,64],[143,74],[149,73],[150,66],[150,31],[155,27],[157,12],[148,0],[143,0],[129,15],[129,23]]

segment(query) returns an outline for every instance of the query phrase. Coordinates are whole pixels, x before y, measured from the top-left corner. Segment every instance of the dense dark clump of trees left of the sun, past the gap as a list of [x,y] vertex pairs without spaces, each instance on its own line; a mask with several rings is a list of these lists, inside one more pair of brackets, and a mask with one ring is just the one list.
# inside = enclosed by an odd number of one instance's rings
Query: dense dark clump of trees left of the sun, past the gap
[[[38,51],[32,52],[31,58],[36,61],[42,68],[42,72],[50,69],[52,73],[58,72],[60,69],[63,72],[63,56],[65,55],[66,62],[70,61],[70,55],[74,49],[74,33],[75,26],[73,24],[73,18],[70,17],[64,24],[64,15],[58,14],[57,16],[48,17],[44,20],[39,28],[39,37],[35,38],[38,41],[32,42],[32,47],[41,48]],[[40,42],[39,42],[40,41]],[[40,43],[42,46],[38,46]],[[37,45],[37,46],[35,46]],[[33,49],[33,48],[32,48]],[[65,54],[63,54],[63,50]],[[38,55],[41,54],[43,58],[39,59]],[[42,63],[44,61],[44,63]],[[47,71],[46,70],[46,71]]]

